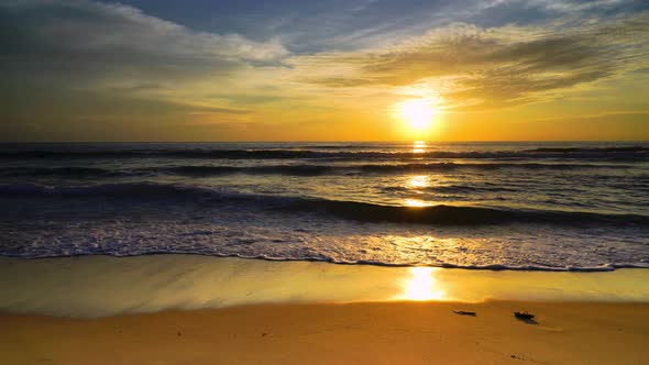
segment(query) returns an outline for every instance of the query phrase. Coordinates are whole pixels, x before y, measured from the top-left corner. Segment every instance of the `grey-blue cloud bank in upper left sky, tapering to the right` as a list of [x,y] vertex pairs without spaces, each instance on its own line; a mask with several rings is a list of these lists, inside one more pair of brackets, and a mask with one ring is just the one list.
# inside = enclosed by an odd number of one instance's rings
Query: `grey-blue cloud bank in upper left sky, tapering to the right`
[[278,42],[196,32],[123,5],[85,0],[0,2],[0,73],[62,87],[177,87],[274,65]]

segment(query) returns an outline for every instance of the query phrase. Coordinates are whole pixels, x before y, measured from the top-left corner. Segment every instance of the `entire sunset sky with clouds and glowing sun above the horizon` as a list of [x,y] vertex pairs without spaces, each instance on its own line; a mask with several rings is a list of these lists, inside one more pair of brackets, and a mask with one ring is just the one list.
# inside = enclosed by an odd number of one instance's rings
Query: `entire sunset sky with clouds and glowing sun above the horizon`
[[647,141],[649,1],[0,0],[0,78],[6,142]]

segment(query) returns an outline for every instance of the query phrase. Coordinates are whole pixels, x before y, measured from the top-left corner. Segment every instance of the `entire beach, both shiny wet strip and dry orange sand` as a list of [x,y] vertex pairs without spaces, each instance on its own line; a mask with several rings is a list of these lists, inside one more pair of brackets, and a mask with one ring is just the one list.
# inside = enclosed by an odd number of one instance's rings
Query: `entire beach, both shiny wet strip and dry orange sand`
[[7,364],[642,364],[649,356],[644,269],[0,259]]

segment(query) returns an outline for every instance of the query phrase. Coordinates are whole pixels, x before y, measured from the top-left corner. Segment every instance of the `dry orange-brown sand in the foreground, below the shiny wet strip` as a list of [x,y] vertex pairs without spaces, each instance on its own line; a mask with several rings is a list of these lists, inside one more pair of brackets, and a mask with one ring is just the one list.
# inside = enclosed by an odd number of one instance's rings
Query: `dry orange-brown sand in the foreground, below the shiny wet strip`
[[[476,317],[452,310],[475,311]],[[537,314],[536,324],[513,312]],[[647,364],[649,305],[262,305],[0,316],[2,364]]]

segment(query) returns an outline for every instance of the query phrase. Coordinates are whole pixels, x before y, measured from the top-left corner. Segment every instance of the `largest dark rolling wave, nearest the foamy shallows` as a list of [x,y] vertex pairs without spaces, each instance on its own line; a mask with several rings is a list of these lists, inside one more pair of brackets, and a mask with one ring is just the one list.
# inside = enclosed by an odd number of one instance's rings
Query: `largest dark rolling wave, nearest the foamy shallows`
[[0,185],[0,197],[109,197],[111,199],[168,201],[183,198],[201,203],[234,203],[243,209],[265,212],[316,213],[363,222],[397,222],[433,225],[479,225],[505,223],[542,223],[557,225],[649,226],[649,217],[605,214],[579,211],[524,210],[483,207],[385,206],[361,201],[328,200],[287,196],[266,196],[221,191],[209,187],[172,184],[131,182],[77,187],[34,184]]

